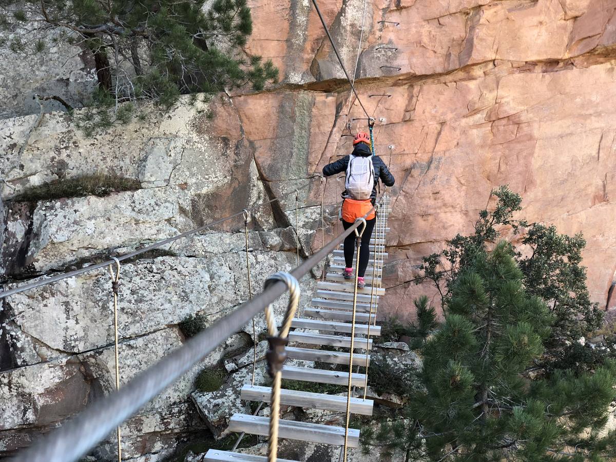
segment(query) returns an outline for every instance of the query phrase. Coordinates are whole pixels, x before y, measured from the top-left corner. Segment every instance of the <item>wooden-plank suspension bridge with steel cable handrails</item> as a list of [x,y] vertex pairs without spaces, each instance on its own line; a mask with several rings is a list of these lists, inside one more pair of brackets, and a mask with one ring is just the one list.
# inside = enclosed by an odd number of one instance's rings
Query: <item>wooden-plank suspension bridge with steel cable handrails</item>
[[[326,36],[333,48],[334,54],[346,76],[352,95],[349,97],[347,108],[347,120],[366,120],[370,127],[370,140],[374,154],[374,140],[372,128],[375,119],[371,116],[355,89],[355,75],[359,64],[362,34],[359,39],[357,60],[353,78],[349,75],[336,44],[331,38],[325,19],[318,8],[317,2],[312,0],[318,17],[322,22]],[[365,6],[364,2],[364,15]],[[363,119],[349,119],[352,96],[359,103],[365,114]],[[370,95],[370,97],[391,97],[391,95]],[[377,104],[378,107],[378,104]],[[351,123],[347,124],[351,129]],[[344,136],[344,135],[343,135]],[[393,145],[389,146],[390,163]],[[347,450],[358,448],[360,444],[360,429],[351,428],[351,415],[372,415],[373,401],[367,399],[367,387],[370,375],[370,350],[373,345],[372,337],[379,336],[380,327],[376,323],[379,299],[384,295],[382,287],[383,263],[387,258],[385,241],[389,230],[387,219],[390,211],[390,197],[388,190],[378,198],[373,209],[365,216],[357,219],[355,223],[338,234],[329,243],[325,243],[325,222],[323,220],[323,195],[325,186],[322,181],[321,194],[321,231],[323,247],[308,257],[304,262],[299,258],[299,233],[298,233],[298,190],[307,188],[311,182],[303,187],[281,195],[280,197],[255,205],[249,209],[235,213],[231,216],[218,219],[196,229],[181,233],[174,237],[157,241],[144,248],[137,249],[128,254],[113,257],[108,261],[92,264],[88,267],[73,270],[71,272],[57,274],[52,277],[40,278],[33,282],[20,285],[9,290],[0,292],[0,299],[10,295],[28,291],[33,288],[49,285],[66,278],[76,277],[80,274],[108,267],[111,277],[111,293],[115,316],[115,378],[116,391],[104,399],[89,405],[83,412],[69,419],[59,429],[50,432],[49,435],[35,442],[33,446],[23,450],[15,456],[16,462],[63,462],[75,461],[89,452],[111,432],[116,432],[117,455],[121,462],[121,432],[120,425],[126,419],[135,415],[140,408],[160,394],[171,383],[187,373],[193,366],[203,360],[219,344],[224,342],[233,333],[240,331],[243,326],[252,322],[253,339],[256,342],[254,331],[254,317],[265,312],[267,330],[269,334],[269,351],[267,352],[267,372],[273,378],[272,386],[257,386],[253,380],[246,383],[239,390],[241,399],[249,402],[257,402],[257,411],[254,415],[236,413],[230,417],[229,430],[238,432],[237,443],[233,450],[222,451],[210,449],[203,458],[206,462],[290,462],[277,458],[278,439],[301,440],[315,444],[331,445],[340,447],[340,460],[347,461]],[[336,182],[336,201],[338,190]],[[251,288],[250,267],[248,264],[248,213],[268,205],[274,201],[295,194],[296,223],[295,232],[298,239],[297,267],[288,273],[277,273],[265,283],[264,290],[253,297]],[[357,285],[357,273],[351,280],[343,277],[342,271],[346,267],[342,242],[352,233],[356,236],[357,249],[355,251],[354,268],[359,267],[359,242],[365,219],[376,209],[376,225],[370,240],[370,260],[365,275],[367,285],[359,288]],[[129,260],[139,254],[147,253],[156,248],[161,248],[178,239],[194,235],[214,227],[222,222],[244,216],[246,233],[246,270],[249,282],[249,300],[241,304],[231,314],[218,320],[201,333],[189,339],[184,346],[161,359],[152,367],[142,371],[124,386],[120,387],[120,360],[118,358],[118,280],[120,278],[121,262]],[[326,266],[323,261],[328,259],[330,264]],[[310,273],[319,265],[323,264],[320,280],[317,282],[314,297],[310,306],[298,310],[299,283],[302,277]],[[274,317],[272,302],[289,292],[288,310],[284,320]],[[280,326],[280,328],[279,328]],[[290,346],[289,346],[290,344]],[[256,345],[255,345],[256,346]],[[256,351],[256,349],[255,349]],[[286,365],[285,360],[307,360],[317,363],[338,365],[336,370],[294,367]],[[344,371],[340,366],[344,365]],[[360,371],[360,369],[362,371]],[[344,394],[320,394],[302,390],[289,390],[282,388],[282,379],[299,381],[300,383],[322,383],[339,386],[341,392],[346,387]],[[306,387],[307,388],[307,387]],[[258,411],[264,404],[270,406],[270,415],[258,415]],[[279,418],[280,405],[301,407],[304,409],[317,409],[339,412],[344,415],[344,427],[308,421],[294,421]],[[260,437],[268,437],[267,456],[248,455],[237,452],[238,444],[245,434],[253,434]]]

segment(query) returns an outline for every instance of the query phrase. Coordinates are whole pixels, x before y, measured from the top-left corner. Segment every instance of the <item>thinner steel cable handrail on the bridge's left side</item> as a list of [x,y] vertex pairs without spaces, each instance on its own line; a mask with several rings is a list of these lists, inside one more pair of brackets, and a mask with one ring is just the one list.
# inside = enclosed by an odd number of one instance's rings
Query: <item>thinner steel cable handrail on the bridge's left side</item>
[[[312,180],[317,179],[317,178],[320,179],[320,176],[315,175],[315,176],[312,176],[312,177],[310,177],[308,179],[312,181]],[[180,234],[177,234],[175,236],[163,239],[161,241],[156,241],[156,242],[154,242],[154,243],[152,243],[150,245],[145,246],[144,248],[132,251],[131,253],[127,253],[127,254],[124,254],[124,255],[121,255],[121,256],[109,259],[107,261],[103,261],[101,263],[96,263],[96,264],[93,264],[93,265],[89,265],[89,266],[84,267],[84,268],[79,268],[79,269],[70,271],[68,273],[62,273],[62,274],[59,274],[59,275],[52,276],[50,278],[41,279],[41,280],[38,280],[38,281],[30,282],[28,284],[17,286],[15,288],[12,288],[12,289],[9,289],[9,290],[2,291],[2,292],[0,292],[0,299],[8,297],[10,295],[14,295],[14,294],[18,294],[18,293],[21,293],[21,292],[25,292],[25,291],[28,291],[28,290],[31,290],[31,289],[34,289],[34,288],[37,288],[37,287],[41,287],[41,286],[44,286],[44,285],[52,284],[52,283],[61,281],[63,279],[68,279],[68,278],[75,277],[75,276],[78,276],[78,275],[81,275],[81,274],[84,274],[84,273],[87,273],[87,272],[90,272],[90,271],[94,271],[94,270],[97,270],[97,269],[100,269],[100,268],[104,268],[104,267],[106,267],[108,265],[111,265],[111,264],[115,263],[116,260],[117,261],[128,260],[128,259],[130,259],[132,257],[135,257],[135,256],[139,255],[139,254],[146,253],[146,252],[148,252],[150,250],[153,250],[153,249],[156,249],[156,248],[160,248],[161,246],[166,245],[168,243],[177,241],[178,239],[181,239],[183,237],[187,237],[187,236],[193,235],[193,234],[198,233],[200,231],[203,231],[203,230],[206,230],[206,229],[211,228],[213,226],[216,226],[218,224],[221,224],[221,223],[223,223],[225,221],[228,221],[228,220],[231,220],[233,218],[237,218],[239,216],[242,216],[245,212],[254,211],[254,210],[256,210],[256,209],[258,209],[258,208],[260,208],[262,206],[271,204],[272,202],[280,201],[283,198],[285,198],[287,196],[290,196],[291,194],[296,194],[299,190],[302,190],[302,189],[305,189],[305,188],[309,187],[309,185],[310,185],[310,182],[308,182],[306,185],[301,186],[299,188],[293,188],[293,191],[285,193],[285,194],[283,194],[280,197],[275,197],[274,199],[270,199],[269,201],[265,201],[265,202],[262,202],[260,204],[254,205],[251,208],[243,209],[241,212],[237,212],[237,213],[234,213],[234,214],[229,215],[227,217],[224,217],[224,218],[218,219],[216,221],[207,223],[205,225],[201,225],[200,227],[197,227],[195,229],[185,231],[183,233],[180,233]]]

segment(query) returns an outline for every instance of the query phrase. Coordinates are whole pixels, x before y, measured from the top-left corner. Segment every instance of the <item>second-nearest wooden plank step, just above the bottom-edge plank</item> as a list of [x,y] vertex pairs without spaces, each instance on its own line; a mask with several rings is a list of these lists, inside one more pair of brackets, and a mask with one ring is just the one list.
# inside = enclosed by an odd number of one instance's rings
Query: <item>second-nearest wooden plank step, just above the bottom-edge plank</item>
[[[246,432],[253,435],[268,436],[269,417],[233,414],[229,421],[229,430],[238,433]],[[314,424],[285,419],[280,419],[278,422],[278,437],[283,439],[342,446],[344,445],[344,433],[344,428],[333,425]],[[348,447],[359,447],[359,430],[349,428],[347,436]]]

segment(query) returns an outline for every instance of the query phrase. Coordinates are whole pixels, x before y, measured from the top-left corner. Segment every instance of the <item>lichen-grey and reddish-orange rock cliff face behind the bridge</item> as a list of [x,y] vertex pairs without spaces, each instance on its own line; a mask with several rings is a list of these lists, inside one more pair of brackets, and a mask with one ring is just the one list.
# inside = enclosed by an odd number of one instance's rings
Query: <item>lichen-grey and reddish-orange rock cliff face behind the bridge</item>
[[[94,79],[87,57],[59,46],[30,73],[30,58],[2,50],[1,267],[7,283],[123,254],[278,198],[249,212],[256,293],[267,276],[296,264],[296,219],[301,257],[320,248],[322,200],[325,240],[339,232],[342,182],[328,179],[322,195],[320,181],[311,177],[349,153],[349,135],[366,129],[366,115],[359,101],[349,100],[310,2],[249,3],[254,33],[246,49],[274,60],[282,84],[258,94],[219,95],[208,108],[152,110],[145,122],[90,138],[62,112],[44,114],[28,137],[39,113],[34,93],[81,105]],[[380,313],[413,316],[412,298],[433,294],[406,283],[416,277],[421,257],[468,233],[501,184],[521,193],[529,221],[584,233],[591,297],[604,306],[616,274],[616,4],[320,3],[351,74],[357,60],[357,91],[378,121],[376,150],[396,179],[384,268],[389,290]],[[12,201],[34,185],[97,172],[137,179],[140,188],[107,197]],[[201,313],[212,322],[248,298],[242,230],[240,214],[123,265],[120,336],[122,357],[130,361],[122,366],[123,379],[184,341],[176,325],[185,315]],[[302,281],[302,304],[313,285]],[[278,313],[284,304],[278,302]],[[10,297],[0,323],[0,397],[9,400],[0,419],[4,455],[113,388],[109,276],[92,272]],[[237,342],[246,347],[246,335],[238,334]],[[205,365],[228,359],[229,350]],[[126,424],[127,457],[155,458],[206,428],[189,397],[195,373],[161,398],[164,403],[148,405]],[[64,398],[69,395],[79,399]],[[113,442],[96,457],[113,459]]]

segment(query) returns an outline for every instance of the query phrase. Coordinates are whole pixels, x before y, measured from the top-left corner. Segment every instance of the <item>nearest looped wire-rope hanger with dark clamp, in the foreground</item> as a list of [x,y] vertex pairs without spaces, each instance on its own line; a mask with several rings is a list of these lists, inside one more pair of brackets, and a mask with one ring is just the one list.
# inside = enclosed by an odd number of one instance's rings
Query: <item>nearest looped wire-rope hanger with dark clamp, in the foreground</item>
[[274,379],[270,403],[269,442],[267,449],[268,462],[276,462],[278,455],[278,419],[280,418],[282,367],[286,360],[285,347],[289,342],[289,330],[291,328],[291,321],[298,309],[300,292],[298,280],[286,272],[278,272],[267,278],[263,285],[264,290],[267,290],[269,285],[277,281],[282,281],[286,284],[289,290],[289,302],[286,307],[285,320],[282,323],[280,331],[278,331],[277,328],[272,305],[269,304],[265,307],[265,321],[267,322],[267,333],[269,334],[267,338],[269,349],[265,354],[265,359],[267,360],[267,373]]

